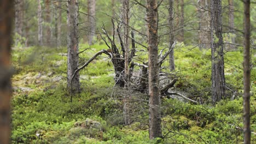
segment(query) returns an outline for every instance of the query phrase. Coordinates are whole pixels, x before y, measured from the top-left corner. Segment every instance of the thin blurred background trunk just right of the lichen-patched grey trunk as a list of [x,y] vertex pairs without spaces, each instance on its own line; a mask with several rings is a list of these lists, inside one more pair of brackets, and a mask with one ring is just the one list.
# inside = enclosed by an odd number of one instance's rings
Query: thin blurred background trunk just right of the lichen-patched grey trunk
[[[229,0],[229,37],[231,39],[231,44],[235,44],[235,22],[234,22],[234,4],[233,0]],[[235,45],[230,45],[230,49],[235,49]]]

